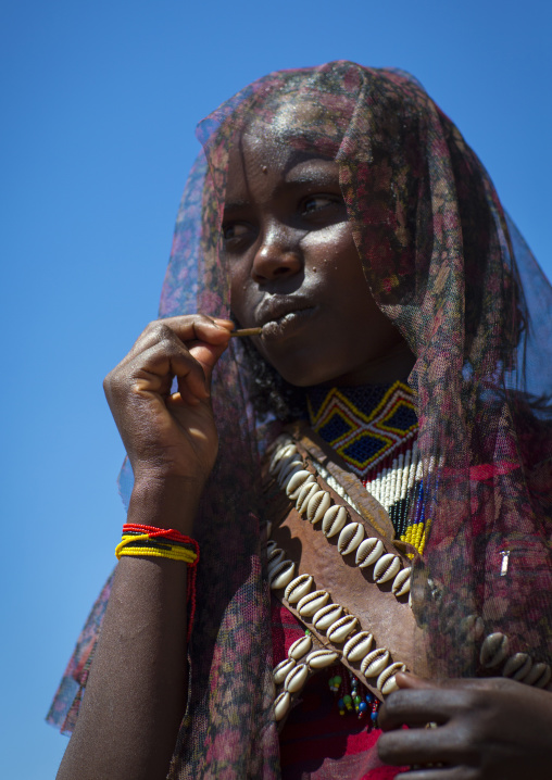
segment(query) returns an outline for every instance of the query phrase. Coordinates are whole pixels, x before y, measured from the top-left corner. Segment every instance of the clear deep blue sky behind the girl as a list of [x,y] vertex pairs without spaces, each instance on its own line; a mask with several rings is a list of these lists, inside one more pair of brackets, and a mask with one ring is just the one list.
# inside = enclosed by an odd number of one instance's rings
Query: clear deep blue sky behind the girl
[[17,0],[0,23],[0,777],[50,780],[43,716],[124,521],[104,375],[156,303],[196,123],[254,78],[414,73],[552,275],[545,0]]

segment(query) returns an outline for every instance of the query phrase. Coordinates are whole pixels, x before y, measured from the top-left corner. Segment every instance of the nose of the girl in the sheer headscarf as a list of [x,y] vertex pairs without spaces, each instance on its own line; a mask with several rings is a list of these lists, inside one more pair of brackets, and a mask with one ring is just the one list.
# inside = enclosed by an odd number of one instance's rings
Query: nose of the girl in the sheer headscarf
[[258,284],[277,277],[293,276],[303,267],[302,253],[292,230],[272,226],[262,238],[253,257],[251,278]]

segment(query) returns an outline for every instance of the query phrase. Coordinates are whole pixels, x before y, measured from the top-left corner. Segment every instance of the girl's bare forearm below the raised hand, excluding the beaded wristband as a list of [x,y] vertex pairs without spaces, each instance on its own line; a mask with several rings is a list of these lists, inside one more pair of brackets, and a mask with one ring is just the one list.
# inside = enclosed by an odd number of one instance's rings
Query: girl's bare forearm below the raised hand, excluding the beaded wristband
[[[190,533],[195,500],[158,488],[133,494],[128,521]],[[58,780],[166,777],[186,707],[186,578],[178,561],[121,558]]]

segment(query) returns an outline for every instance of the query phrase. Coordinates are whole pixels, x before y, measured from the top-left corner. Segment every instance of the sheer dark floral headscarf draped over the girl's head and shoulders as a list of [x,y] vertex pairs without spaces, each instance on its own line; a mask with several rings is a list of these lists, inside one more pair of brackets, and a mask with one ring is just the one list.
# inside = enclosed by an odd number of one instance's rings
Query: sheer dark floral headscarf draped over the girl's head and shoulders
[[[183,198],[161,316],[229,314],[221,218],[228,152],[244,129],[339,163],[372,294],[416,355],[429,533],[414,562],[413,609],[429,668],[475,675],[492,632],[510,652],[551,663],[552,291],[485,168],[409,74],[350,62],[271,74],[199,125],[204,151]],[[269,426],[255,417],[237,341],[213,378],[221,450],[197,521],[190,695],[172,778],[279,776],[258,476]],[[98,621],[67,670],[76,689]]]

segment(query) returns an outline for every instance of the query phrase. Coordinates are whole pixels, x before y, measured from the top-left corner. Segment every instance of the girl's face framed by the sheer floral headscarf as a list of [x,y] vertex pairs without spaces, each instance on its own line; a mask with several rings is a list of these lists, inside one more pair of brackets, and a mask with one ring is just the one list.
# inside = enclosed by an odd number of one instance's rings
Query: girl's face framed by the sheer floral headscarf
[[336,162],[244,135],[223,219],[231,310],[292,385],[403,379],[414,356],[379,311],[347,218]]

